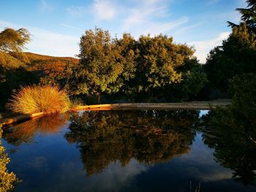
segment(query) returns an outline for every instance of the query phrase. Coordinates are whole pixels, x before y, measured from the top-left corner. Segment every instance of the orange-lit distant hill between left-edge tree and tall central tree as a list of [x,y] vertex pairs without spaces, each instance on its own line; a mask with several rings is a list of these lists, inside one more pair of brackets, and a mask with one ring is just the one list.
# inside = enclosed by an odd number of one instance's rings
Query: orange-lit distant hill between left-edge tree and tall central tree
[[79,63],[78,58],[72,57],[53,57],[48,55],[39,55],[35,53],[23,53],[29,60],[26,69],[39,76],[53,76],[63,71],[65,66],[74,66]]

